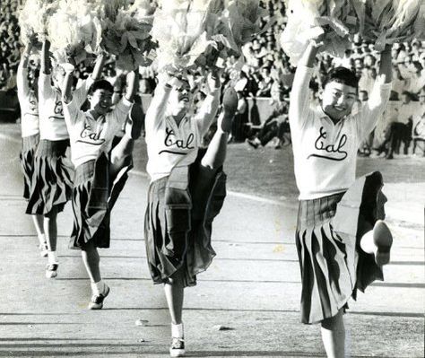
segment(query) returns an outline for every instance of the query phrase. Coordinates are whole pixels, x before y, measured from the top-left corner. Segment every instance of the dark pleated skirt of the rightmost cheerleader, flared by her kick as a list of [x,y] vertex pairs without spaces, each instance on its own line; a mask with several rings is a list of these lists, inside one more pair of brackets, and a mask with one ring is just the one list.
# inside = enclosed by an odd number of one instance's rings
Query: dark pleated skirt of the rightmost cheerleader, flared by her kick
[[383,280],[360,239],[384,219],[386,196],[379,172],[357,179],[345,193],[299,202],[296,244],[301,270],[301,321],[334,317],[356,292]]

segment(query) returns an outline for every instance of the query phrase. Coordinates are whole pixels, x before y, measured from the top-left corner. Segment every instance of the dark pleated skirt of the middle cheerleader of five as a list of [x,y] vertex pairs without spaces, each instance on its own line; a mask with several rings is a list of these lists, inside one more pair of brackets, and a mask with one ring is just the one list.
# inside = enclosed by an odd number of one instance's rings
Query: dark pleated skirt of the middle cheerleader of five
[[109,180],[109,162],[105,154],[85,162],[75,170],[73,188],[74,225],[70,249],[81,249],[89,240],[97,248],[110,246],[110,212],[124,188],[131,163]]

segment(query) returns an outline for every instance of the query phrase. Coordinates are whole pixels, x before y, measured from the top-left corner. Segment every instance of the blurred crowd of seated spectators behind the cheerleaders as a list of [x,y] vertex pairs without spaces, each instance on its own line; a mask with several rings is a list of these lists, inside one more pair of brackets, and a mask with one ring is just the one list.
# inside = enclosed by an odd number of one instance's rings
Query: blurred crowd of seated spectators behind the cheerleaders
[[[17,12],[22,0],[2,0],[0,3],[0,91],[15,91],[15,74],[19,65],[22,44]],[[239,95],[239,111],[235,118],[231,141],[243,142],[257,148],[272,141],[275,148],[291,144],[288,125],[289,93],[295,68],[279,45],[285,28],[286,16],[282,0],[262,0],[270,15],[277,21],[244,48],[245,64],[240,69],[236,58],[228,58],[222,82],[232,83]],[[266,18],[265,22],[268,21]],[[375,134],[362,145],[360,155],[381,155],[388,159],[394,155],[422,154],[425,133],[422,119],[425,117],[425,42],[395,44],[393,47],[393,91],[391,103]],[[37,66],[37,61],[32,61]],[[373,45],[355,38],[343,58],[322,55],[310,83],[311,99],[318,100],[325,74],[334,66],[343,65],[354,70],[359,78],[359,100],[368,100],[371,87],[377,77],[379,54]],[[238,69],[238,71],[236,70]],[[91,67],[81,64],[77,77],[85,78]],[[139,103],[149,100],[155,88],[154,66],[140,69]],[[124,75],[117,71],[114,62],[105,67],[105,77],[122,91]],[[235,75],[237,78],[235,78]],[[198,94],[202,97],[202,92]],[[421,122],[421,123],[420,123]],[[419,127],[418,127],[419,124]]]

